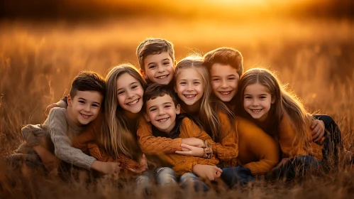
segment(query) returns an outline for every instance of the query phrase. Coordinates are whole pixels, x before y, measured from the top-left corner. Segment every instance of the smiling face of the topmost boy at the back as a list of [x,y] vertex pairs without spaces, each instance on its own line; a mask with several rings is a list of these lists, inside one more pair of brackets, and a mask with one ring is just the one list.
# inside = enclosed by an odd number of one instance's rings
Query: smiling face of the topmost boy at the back
[[162,85],[168,85],[174,73],[175,63],[172,61],[169,53],[148,55],[144,59],[144,69],[140,70],[145,80],[150,80]]

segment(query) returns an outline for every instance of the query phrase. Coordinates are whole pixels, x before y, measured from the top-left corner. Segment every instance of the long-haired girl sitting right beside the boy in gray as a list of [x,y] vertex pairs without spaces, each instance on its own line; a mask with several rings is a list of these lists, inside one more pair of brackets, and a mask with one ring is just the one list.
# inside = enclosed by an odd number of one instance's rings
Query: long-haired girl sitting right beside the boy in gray
[[[143,107],[146,82],[130,64],[118,65],[106,75],[104,112],[72,141],[99,161],[120,163],[121,173],[142,173],[148,166],[135,137]],[[60,107],[67,104],[60,101]]]

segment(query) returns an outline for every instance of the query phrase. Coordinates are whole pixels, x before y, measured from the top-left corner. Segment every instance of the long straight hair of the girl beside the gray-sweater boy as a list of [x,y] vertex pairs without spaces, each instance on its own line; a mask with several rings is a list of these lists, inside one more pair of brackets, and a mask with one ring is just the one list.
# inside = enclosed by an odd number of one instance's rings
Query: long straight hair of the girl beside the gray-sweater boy
[[134,77],[143,89],[146,82],[138,70],[131,64],[122,64],[112,68],[106,76],[106,101],[104,119],[102,126],[101,141],[112,156],[118,158],[118,151],[124,155],[133,158],[134,152],[138,149],[135,140],[135,132],[129,128],[123,109],[118,104],[116,82],[123,74],[129,74]]

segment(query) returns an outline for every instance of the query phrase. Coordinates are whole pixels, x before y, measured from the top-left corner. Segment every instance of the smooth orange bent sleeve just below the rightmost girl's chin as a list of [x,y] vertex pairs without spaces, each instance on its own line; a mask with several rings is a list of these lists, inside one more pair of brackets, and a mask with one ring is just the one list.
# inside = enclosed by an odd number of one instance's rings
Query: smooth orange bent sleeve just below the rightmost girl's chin
[[253,176],[263,175],[277,165],[280,150],[275,139],[266,134],[252,122],[236,117],[236,129],[239,141],[246,143],[244,153],[258,158],[258,161],[245,163],[243,167],[249,168]]

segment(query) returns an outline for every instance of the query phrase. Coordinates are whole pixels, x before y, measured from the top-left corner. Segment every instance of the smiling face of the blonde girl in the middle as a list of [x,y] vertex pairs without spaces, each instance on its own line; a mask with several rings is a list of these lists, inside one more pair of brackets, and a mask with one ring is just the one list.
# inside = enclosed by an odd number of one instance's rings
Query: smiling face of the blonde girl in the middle
[[186,68],[179,72],[175,92],[185,104],[192,106],[203,96],[203,77],[197,69]]

